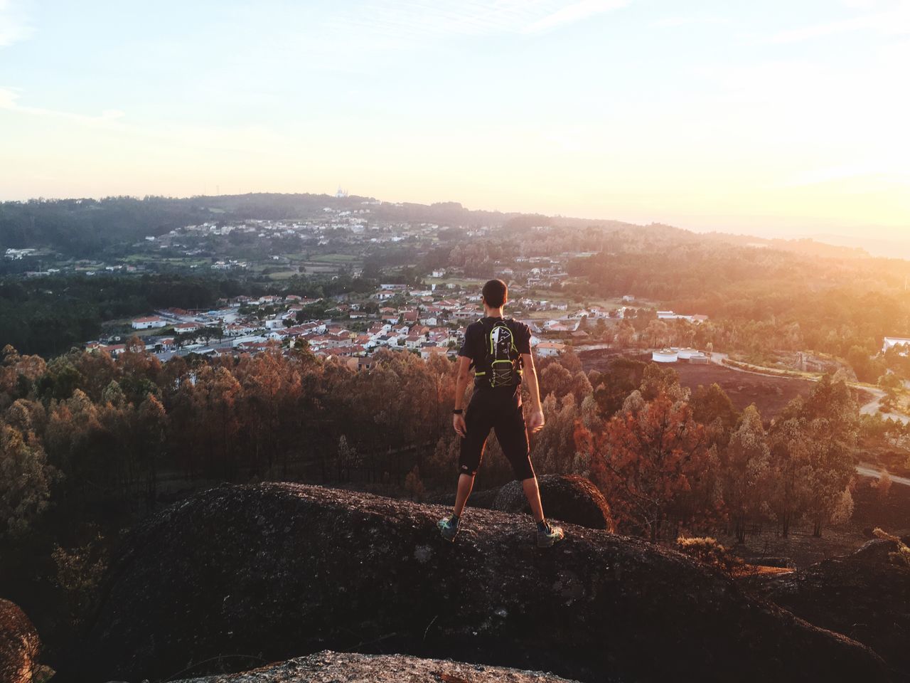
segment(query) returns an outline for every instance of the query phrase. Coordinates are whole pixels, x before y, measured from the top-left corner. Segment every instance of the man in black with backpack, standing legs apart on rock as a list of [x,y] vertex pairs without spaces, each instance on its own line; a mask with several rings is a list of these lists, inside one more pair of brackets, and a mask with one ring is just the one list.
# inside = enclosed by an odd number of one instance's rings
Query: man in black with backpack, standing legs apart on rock
[[[531,467],[528,430],[535,433],[543,427],[541,393],[531,355],[531,330],[521,321],[502,317],[508,292],[502,280],[490,280],[483,285],[483,318],[468,326],[458,353],[452,426],[461,437],[460,474],[455,509],[452,515],[440,519],[439,527],[442,537],[448,541],[453,541],[458,534],[461,513],[468,502],[474,475],[483,458],[483,447],[492,429],[531,505],[537,522],[537,545],[549,547],[561,541],[564,534],[559,526],[550,525],[543,516],[541,492]],[[474,392],[465,411],[464,392],[471,369],[474,370]],[[522,376],[531,393],[527,426],[521,409]]]

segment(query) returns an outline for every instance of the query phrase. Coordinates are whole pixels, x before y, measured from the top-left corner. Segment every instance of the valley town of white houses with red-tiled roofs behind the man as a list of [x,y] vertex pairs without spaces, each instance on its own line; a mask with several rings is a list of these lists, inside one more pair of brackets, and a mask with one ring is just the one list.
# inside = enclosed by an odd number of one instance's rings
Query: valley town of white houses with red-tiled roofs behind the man
[[[354,367],[369,367],[369,355],[380,348],[419,353],[424,359],[433,353],[454,355],[465,327],[482,315],[479,294],[440,294],[400,284],[380,285],[367,301],[332,301],[325,308],[327,317],[308,319],[306,308],[322,302],[294,294],[238,296],[221,301],[223,305],[211,311],[155,311],[132,320],[130,327],[145,349],[161,360],[189,353],[223,355],[278,347],[349,358]],[[531,327],[531,345],[541,356],[559,354],[573,340],[585,341],[589,332],[581,329],[582,322],[616,321],[623,313],[623,309],[605,311],[599,306],[568,311],[566,304],[529,298],[513,305],[522,311],[552,312],[554,317],[549,319],[520,318]],[[86,348],[119,355],[126,351],[126,341],[118,336],[121,339],[88,342]]]

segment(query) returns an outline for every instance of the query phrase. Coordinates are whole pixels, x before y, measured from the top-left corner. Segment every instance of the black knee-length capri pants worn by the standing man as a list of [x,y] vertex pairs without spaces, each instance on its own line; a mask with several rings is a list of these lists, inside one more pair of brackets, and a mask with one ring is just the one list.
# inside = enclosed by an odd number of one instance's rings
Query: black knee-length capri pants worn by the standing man
[[477,474],[483,460],[483,447],[496,432],[502,454],[512,466],[516,479],[531,479],[531,449],[528,430],[521,412],[521,385],[516,387],[475,387],[464,414],[465,435],[461,439],[460,474]]

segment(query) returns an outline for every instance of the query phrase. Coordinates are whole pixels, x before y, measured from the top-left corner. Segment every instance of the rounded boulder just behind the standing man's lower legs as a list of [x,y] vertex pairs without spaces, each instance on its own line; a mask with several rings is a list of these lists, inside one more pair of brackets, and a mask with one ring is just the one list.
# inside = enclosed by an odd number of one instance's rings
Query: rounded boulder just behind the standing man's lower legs
[[[541,487],[543,514],[589,529],[613,531],[610,504],[594,484],[574,474],[544,474],[537,479]],[[500,489],[492,509],[502,512],[523,512],[531,515],[528,499],[521,482],[511,482]]]

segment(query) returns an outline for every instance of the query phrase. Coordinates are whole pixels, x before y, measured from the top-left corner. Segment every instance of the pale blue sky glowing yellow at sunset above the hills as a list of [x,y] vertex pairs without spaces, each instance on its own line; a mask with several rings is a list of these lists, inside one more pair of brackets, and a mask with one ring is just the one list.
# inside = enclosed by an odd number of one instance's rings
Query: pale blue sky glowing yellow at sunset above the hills
[[0,199],[910,242],[910,0],[0,0]]

